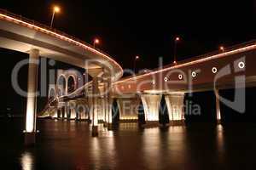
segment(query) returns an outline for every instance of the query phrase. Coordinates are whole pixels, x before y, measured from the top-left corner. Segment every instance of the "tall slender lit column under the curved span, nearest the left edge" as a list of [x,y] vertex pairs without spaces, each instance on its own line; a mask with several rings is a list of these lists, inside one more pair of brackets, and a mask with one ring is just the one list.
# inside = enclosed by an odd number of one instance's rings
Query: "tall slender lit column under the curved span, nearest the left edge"
[[37,91],[38,91],[39,50],[31,49],[29,54],[27,100],[26,100],[26,133],[25,144],[36,142]]

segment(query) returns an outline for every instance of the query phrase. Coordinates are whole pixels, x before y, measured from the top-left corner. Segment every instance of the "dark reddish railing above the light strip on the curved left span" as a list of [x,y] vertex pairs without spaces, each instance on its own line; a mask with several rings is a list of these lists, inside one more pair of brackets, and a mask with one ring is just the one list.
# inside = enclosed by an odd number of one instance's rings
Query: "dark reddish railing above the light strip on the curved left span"
[[[70,39],[72,39],[72,40],[74,40],[76,42],[80,42],[80,43],[86,45],[88,48],[95,49],[96,51],[100,52],[101,54],[104,54],[104,55],[108,56],[108,58],[112,59],[108,54],[103,52],[101,49],[95,48],[90,43],[84,42],[84,41],[80,40],[77,37],[70,36],[67,33],[63,32],[63,31],[56,30],[55,28],[51,28],[50,26],[41,24],[38,21],[27,19],[26,17],[24,17],[22,15],[11,13],[11,12],[9,12],[6,9],[0,8],[0,14],[7,15],[9,17],[12,17],[12,18],[16,19],[16,20],[21,20],[23,22],[26,22],[27,24],[30,24],[30,25],[33,25],[33,26],[38,26],[38,27],[43,28],[43,29],[45,29],[47,31],[52,31],[52,32],[54,32],[56,34],[59,34],[59,35],[63,36],[63,37],[67,37],[67,38],[70,38]],[[44,33],[46,33],[46,32],[44,32]]]

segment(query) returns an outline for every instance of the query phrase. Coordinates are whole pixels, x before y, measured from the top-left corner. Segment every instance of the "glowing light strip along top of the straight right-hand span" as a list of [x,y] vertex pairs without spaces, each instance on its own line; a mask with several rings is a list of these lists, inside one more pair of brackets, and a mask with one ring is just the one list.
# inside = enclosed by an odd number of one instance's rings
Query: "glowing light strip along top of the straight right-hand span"
[[137,77],[127,78],[127,79],[119,81],[119,82],[113,82],[113,85],[117,85],[117,84],[119,84],[121,82],[135,80],[135,79],[138,79],[138,78],[141,78],[141,77],[147,77],[147,76],[154,75],[154,74],[162,72],[162,71],[169,71],[169,70],[177,69],[177,68],[180,68],[180,67],[183,67],[183,66],[199,64],[199,63],[211,60],[211,59],[217,59],[217,58],[220,58],[220,57],[224,57],[226,55],[236,54],[236,53],[240,53],[240,52],[245,52],[245,51],[248,51],[248,50],[253,49],[253,48],[256,48],[256,44],[248,46],[248,47],[245,47],[245,48],[238,48],[238,49],[235,49],[235,50],[231,50],[231,51],[228,51],[228,52],[225,52],[225,53],[222,53],[222,54],[215,54],[215,55],[203,58],[203,59],[197,59],[197,60],[194,60],[194,61],[189,61],[188,63],[183,63],[183,64],[180,64],[180,65],[174,65],[174,66],[162,69],[162,70],[149,72],[149,73],[137,76]]

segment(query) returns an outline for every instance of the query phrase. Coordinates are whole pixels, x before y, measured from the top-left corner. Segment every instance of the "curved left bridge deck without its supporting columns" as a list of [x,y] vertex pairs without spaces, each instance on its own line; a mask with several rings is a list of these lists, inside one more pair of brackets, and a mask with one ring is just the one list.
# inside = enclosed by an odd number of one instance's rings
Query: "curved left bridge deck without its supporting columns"
[[108,54],[64,32],[3,10],[0,10],[0,47],[23,53],[37,48],[40,56],[88,69],[89,74],[90,69],[102,68],[111,74],[113,81],[122,77],[121,66]]

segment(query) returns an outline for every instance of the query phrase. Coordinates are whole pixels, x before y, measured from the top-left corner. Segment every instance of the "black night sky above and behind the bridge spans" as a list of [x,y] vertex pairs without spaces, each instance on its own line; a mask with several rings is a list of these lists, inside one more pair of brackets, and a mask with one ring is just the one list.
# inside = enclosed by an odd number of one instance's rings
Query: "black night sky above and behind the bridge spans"
[[[0,8],[49,25],[53,4],[61,7],[61,14],[55,15],[56,29],[85,42],[99,37],[98,48],[110,54],[123,68],[132,68],[136,55],[141,57],[137,62],[139,69],[156,68],[159,57],[163,57],[164,64],[171,63],[176,36],[182,39],[177,46],[177,60],[211,52],[220,45],[247,42],[256,36],[255,0],[1,0]],[[19,101],[19,97],[14,99],[14,91],[9,87],[10,71],[27,56],[4,49],[0,55],[11,56],[6,65],[1,65],[1,72],[7,74],[0,88],[9,96],[8,106],[9,101]],[[26,78],[20,81],[25,83]]]

